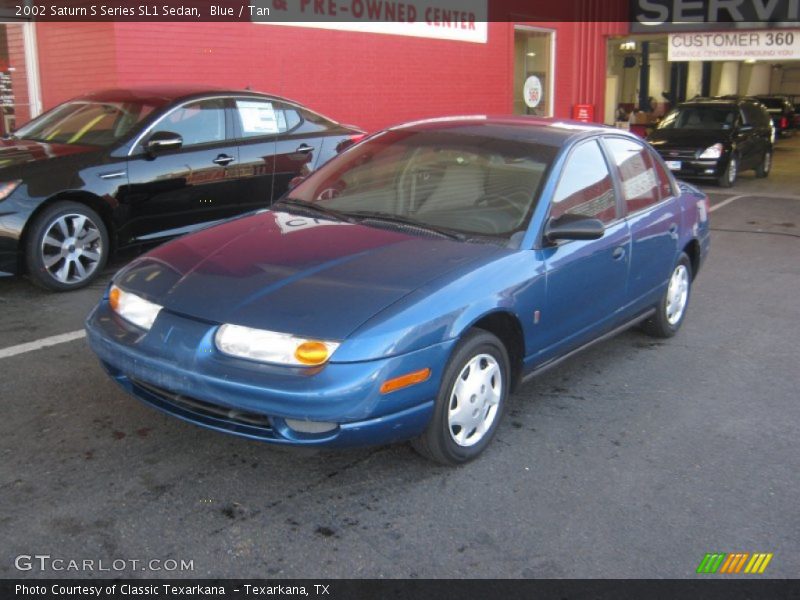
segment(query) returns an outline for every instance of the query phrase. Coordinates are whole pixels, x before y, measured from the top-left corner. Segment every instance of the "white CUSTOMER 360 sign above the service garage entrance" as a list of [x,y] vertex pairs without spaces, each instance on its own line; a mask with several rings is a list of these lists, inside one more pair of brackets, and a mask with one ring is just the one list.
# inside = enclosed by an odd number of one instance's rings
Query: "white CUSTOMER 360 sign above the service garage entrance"
[[800,29],[669,34],[670,61],[799,60]]

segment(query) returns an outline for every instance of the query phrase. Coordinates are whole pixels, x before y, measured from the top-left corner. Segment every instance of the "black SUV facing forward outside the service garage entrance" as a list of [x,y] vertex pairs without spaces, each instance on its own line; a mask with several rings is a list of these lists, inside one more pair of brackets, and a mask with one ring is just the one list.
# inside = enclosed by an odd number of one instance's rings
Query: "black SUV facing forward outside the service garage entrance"
[[667,114],[647,141],[678,177],[730,187],[747,169],[769,175],[775,129],[752,98],[697,98]]

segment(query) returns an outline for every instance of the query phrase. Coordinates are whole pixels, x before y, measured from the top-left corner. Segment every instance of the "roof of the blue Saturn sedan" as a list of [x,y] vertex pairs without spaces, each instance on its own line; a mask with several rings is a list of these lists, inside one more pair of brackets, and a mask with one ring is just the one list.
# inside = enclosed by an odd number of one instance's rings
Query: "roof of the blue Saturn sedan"
[[402,123],[390,129],[394,131],[451,130],[459,133],[488,135],[490,137],[518,140],[527,143],[536,142],[553,147],[561,147],[566,143],[577,141],[579,138],[591,137],[599,133],[620,134],[628,137],[635,137],[641,141],[641,138],[633,136],[626,131],[606,125],[526,115],[458,115],[437,117]]

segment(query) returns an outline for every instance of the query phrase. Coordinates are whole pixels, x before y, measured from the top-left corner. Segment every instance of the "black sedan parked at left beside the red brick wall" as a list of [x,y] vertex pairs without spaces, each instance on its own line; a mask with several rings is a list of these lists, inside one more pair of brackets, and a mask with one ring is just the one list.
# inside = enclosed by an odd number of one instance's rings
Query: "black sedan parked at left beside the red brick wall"
[[117,248],[269,206],[360,137],[250,91],[154,87],[75,98],[0,140],[0,274],[78,288]]

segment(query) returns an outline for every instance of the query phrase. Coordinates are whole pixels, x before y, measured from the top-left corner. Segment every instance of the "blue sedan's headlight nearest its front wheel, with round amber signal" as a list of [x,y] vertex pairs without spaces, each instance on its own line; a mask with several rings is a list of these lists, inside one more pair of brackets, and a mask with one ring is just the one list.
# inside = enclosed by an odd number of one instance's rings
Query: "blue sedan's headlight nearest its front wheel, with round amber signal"
[[219,328],[214,342],[220,352],[230,356],[300,367],[326,363],[339,347],[338,342],[228,324]]

